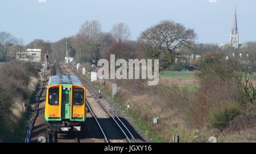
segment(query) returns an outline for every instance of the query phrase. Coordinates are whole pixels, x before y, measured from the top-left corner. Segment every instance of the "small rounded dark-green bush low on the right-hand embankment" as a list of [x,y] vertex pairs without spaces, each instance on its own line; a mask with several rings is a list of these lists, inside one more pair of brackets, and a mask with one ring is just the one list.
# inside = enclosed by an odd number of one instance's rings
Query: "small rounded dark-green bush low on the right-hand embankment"
[[236,103],[224,103],[210,114],[210,126],[222,131],[239,114],[240,110]]

